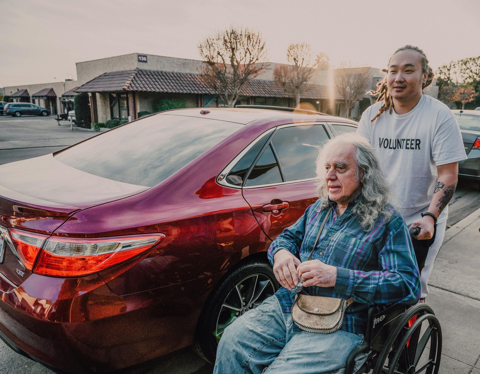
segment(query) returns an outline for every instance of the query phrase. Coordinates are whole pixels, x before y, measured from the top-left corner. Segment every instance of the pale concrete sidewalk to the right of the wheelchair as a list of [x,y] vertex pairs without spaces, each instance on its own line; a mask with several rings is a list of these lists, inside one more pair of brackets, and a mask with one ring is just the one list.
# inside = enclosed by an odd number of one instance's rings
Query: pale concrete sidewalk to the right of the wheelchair
[[440,374],[480,374],[480,209],[445,233],[429,279],[429,304],[440,320]]

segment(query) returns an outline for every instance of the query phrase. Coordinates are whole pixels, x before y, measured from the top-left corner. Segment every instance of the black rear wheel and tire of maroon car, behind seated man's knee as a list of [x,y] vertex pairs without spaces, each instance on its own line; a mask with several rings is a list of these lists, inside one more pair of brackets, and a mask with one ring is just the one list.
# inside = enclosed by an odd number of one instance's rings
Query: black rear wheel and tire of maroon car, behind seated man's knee
[[[273,269],[266,260],[247,260],[231,271],[217,285],[202,310],[195,331],[193,350],[205,361],[214,363],[218,335],[221,337],[223,329],[238,316],[262,304],[266,297],[276,292],[278,286]],[[248,304],[240,305],[239,294],[250,299]],[[230,309],[225,304],[239,310]]]

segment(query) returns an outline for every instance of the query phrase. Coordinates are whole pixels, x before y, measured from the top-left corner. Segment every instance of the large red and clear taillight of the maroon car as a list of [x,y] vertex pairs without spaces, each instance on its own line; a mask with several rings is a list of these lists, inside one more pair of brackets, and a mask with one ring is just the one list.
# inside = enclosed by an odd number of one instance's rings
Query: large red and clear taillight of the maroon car
[[163,242],[165,237],[165,234],[97,239],[50,237],[42,247],[33,272],[53,277],[83,277],[140,255]]

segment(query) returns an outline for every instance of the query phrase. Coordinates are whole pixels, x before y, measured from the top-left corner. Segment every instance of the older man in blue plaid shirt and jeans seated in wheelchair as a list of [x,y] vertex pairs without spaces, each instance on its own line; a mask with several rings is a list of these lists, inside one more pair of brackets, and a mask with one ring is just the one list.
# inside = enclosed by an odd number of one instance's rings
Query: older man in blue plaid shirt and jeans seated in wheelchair
[[399,344],[417,344],[405,333],[417,315],[405,311],[419,300],[419,270],[372,147],[351,133],[329,140],[317,176],[319,199],[268,250],[282,287],[226,328],[214,373],[343,373],[346,363],[417,373]]

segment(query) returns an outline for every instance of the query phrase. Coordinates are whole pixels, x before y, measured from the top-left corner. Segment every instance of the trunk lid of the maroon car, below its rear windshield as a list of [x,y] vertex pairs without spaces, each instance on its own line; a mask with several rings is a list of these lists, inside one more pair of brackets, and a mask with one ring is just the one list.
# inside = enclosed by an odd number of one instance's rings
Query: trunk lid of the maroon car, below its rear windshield
[[74,169],[51,154],[0,165],[0,288],[18,286],[32,274],[19,260],[8,229],[47,237],[76,211],[146,189]]

